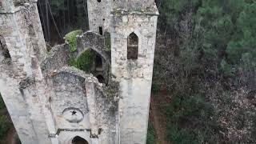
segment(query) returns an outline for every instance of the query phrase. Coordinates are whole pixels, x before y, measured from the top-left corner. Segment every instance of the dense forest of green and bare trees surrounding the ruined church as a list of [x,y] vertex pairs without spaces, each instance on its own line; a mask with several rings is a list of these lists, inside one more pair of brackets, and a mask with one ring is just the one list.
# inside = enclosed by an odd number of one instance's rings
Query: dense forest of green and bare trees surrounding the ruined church
[[[256,0],[155,2],[147,144],[256,143]],[[48,47],[88,30],[85,0],[42,0],[38,10]]]

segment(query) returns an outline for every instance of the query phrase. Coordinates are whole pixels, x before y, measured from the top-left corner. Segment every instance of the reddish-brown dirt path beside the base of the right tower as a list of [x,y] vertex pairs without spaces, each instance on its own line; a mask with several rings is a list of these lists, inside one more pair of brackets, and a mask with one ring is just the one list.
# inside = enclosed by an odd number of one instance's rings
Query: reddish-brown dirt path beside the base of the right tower
[[166,142],[166,118],[162,114],[161,106],[170,102],[170,98],[166,94],[152,95],[150,102],[150,121],[153,123],[157,131],[156,144],[170,144]]

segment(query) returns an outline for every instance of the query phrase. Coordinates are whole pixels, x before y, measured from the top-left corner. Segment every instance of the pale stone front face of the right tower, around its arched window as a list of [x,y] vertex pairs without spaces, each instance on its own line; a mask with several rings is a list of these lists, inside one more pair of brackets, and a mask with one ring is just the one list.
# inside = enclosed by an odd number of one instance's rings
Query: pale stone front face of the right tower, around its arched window
[[[112,18],[111,67],[120,82],[122,144],[146,143],[157,18],[157,13],[114,14]],[[138,36],[138,59],[127,59],[127,38],[131,33]]]

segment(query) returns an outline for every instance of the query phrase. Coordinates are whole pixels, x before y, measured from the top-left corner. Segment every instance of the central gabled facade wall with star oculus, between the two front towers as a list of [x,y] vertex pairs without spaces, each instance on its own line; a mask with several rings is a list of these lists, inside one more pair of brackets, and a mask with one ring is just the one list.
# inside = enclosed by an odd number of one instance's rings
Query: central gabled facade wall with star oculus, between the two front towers
[[[88,79],[92,80],[90,83]],[[66,142],[69,139],[64,138],[70,135],[78,133],[79,130],[93,130],[96,128],[95,134],[98,136],[99,142],[113,143],[117,142],[118,134],[116,133],[116,120],[117,109],[113,109],[110,102],[107,101],[106,94],[97,78],[94,78],[91,74],[78,70],[74,67],[62,67],[59,70],[48,74],[46,76],[46,84],[49,88],[48,93],[50,95],[50,106],[52,113],[54,114],[54,120],[59,132],[60,142]],[[90,90],[86,90],[86,88]],[[88,94],[90,98],[89,101]],[[81,121],[76,121],[80,117],[76,117],[72,121],[70,118],[70,112],[66,110],[76,110],[77,114],[82,115]],[[95,121],[92,122],[92,119]],[[72,130],[71,132],[65,132],[63,129]],[[98,131],[101,130],[100,134]],[[90,134],[94,134],[93,131]],[[93,137],[93,135],[90,135]],[[86,138],[83,135],[82,138]],[[90,142],[90,139],[87,139]]]

